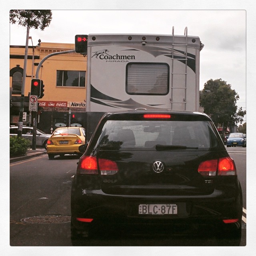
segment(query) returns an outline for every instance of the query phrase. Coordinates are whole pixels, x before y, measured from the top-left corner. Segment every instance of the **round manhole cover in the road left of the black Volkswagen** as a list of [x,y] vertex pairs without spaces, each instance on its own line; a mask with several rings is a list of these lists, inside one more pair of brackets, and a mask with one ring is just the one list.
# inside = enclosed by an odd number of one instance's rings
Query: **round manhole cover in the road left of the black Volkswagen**
[[50,223],[66,223],[70,222],[70,216],[62,215],[45,215],[45,216],[33,216],[21,219],[22,222],[32,224],[50,224]]

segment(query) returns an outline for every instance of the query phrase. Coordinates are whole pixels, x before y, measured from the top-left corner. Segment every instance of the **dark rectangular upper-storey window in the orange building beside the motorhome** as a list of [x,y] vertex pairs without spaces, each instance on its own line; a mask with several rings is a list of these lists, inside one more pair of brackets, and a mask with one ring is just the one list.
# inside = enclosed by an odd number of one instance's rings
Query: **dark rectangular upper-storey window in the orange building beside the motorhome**
[[85,87],[85,71],[57,70],[56,86]]

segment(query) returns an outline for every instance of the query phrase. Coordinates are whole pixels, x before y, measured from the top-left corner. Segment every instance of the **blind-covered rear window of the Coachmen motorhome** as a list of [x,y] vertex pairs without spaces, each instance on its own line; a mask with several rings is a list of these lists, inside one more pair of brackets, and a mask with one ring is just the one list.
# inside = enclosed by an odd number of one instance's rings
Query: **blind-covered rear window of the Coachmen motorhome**
[[129,63],[126,66],[126,92],[137,95],[166,95],[170,67],[166,63]]

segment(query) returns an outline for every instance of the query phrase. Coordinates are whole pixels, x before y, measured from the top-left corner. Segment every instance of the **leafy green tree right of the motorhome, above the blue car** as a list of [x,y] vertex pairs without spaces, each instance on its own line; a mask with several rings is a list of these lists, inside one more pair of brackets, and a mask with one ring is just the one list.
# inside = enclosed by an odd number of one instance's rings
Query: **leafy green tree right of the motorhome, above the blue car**
[[242,110],[242,107],[238,109],[236,106],[238,99],[237,92],[222,79],[208,80],[200,92],[200,104],[204,107],[204,112],[216,125],[223,125],[224,130],[228,126],[243,122],[246,110]]

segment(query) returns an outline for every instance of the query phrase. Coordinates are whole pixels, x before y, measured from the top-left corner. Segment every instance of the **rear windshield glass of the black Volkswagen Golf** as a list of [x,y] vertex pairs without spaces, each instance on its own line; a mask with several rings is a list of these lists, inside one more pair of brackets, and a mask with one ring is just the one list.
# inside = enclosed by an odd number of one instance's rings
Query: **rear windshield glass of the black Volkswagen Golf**
[[208,121],[108,120],[98,150],[210,150],[218,146]]

